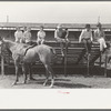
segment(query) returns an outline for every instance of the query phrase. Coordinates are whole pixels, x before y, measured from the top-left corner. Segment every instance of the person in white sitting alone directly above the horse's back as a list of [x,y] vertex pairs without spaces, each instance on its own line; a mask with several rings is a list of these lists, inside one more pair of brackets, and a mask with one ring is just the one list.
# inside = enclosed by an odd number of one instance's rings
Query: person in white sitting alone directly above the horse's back
[[43,26],[40,27],[40,31],[37,33],[37,43],[43,44],[44,43],[44,38],[46,38],[46,32],[43,31]]

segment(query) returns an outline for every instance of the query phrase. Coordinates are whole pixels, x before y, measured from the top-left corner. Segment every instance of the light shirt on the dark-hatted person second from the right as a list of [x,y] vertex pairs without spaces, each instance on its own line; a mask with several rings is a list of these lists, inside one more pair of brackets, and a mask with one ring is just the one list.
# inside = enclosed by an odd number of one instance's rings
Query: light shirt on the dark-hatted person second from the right
[[82,30],[82,32],[80,34],[80,38],[79,38],[79,42],[81,42],[82,39],[90,39],[92,41],[92,32],[91,32],[91,30],[89,30],[89,31],[87,29]]

